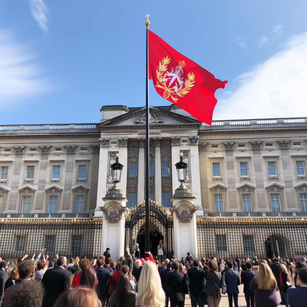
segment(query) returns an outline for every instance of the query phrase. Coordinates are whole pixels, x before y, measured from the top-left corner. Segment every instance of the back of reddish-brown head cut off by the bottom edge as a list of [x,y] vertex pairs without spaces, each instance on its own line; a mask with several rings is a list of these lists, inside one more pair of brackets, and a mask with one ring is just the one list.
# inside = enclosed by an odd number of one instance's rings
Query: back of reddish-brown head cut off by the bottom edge
[[96,291],[79,286],[67,290],[60,295],[56,300],[53,307],[97,307],[98,306],[98,296]]

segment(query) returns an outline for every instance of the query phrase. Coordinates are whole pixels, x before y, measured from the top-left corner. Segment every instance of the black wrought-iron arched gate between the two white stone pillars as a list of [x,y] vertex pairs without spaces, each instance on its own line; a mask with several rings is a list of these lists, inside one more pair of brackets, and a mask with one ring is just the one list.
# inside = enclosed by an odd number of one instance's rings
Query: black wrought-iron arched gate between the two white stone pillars
[[[132,209],[126,218],[125,248],[129,247],[131,254],[135,244],[138,243],[141,258],[146,257],[145,252],[145,207],[139,205]],[[150,206],[150,252],[157,255],[157,246],[160,239],[163,241],[167,258],[174,255],[174,224],[173,216],[166,214],[166,209],[160,205]]]

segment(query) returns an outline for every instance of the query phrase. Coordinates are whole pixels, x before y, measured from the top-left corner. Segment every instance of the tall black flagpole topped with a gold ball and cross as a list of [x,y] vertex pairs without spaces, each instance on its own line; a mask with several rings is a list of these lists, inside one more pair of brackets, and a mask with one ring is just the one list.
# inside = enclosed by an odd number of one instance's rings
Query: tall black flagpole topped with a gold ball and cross
[[[148,26],[150,21],[146,15],[146,198],[145,198],[145,251],[149,251],[149,78],[148,78]],[[141,187],[142,188],[142,187]]]

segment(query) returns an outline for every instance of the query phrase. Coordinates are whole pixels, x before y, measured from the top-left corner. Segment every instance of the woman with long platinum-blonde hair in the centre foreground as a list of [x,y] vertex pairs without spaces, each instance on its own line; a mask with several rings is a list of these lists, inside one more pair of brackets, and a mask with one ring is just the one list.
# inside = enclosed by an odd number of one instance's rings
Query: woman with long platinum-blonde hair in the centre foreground
[[157,266],[147,261],[144,263],[138,282],[137,307],[164,307],[165,293],[161,286]]

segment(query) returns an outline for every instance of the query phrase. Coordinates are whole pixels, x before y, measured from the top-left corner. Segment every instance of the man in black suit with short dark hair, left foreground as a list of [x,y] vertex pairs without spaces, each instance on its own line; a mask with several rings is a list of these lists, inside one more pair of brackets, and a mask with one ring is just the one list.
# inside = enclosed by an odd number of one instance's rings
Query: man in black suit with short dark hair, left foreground
[[70,288],[70,275],[65,270],[65,259],[60,256],[56,261],[56,267],[45,272],[41,283],[46,288],[46,297],[42,307],[53,307],[61,293]]

